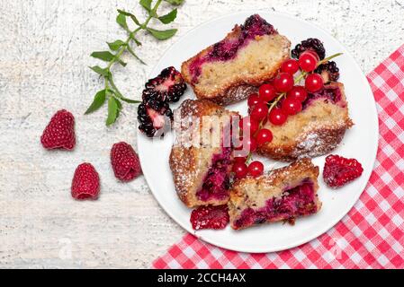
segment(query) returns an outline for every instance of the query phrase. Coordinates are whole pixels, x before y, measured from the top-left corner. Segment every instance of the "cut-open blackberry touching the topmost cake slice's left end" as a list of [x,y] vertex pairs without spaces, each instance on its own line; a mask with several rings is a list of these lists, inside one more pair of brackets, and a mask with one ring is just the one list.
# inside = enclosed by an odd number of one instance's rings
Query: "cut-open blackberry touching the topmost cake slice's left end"
[[169,66],[156,78],[148,80],[143,90],[142,99],[148,101],[149,98],[158,98],[166,102],[180,100],[186,90],[183,76],[175,70],[174,66]]

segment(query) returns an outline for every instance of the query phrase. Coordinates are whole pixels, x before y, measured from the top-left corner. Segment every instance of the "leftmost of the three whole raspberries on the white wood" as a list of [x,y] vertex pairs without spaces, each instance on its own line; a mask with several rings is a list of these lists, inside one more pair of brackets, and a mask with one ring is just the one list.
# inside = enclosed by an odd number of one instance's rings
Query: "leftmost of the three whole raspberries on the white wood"
[[73,149],[76,145],[75,117],[66,109],[58,110],[40,136],[40,143],[48,150]]

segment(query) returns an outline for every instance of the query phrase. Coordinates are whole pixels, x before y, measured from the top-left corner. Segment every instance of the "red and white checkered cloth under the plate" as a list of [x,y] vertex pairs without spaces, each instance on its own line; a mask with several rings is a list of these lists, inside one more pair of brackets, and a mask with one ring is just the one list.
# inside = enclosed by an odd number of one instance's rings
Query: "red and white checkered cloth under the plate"
[[373,174],[341,222],[309,243],[247,254],[187,234],[155,268],[404,268],[404,45],[368,75],[380,143]]

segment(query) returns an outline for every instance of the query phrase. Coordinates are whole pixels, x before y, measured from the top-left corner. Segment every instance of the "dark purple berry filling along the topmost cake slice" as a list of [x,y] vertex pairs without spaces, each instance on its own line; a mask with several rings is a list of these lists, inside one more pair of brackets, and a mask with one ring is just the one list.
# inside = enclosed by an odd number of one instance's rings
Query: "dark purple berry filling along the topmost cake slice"
[[223,39],[213,45],[211,50],[202,57],[197,57],[190,64],[190,74],[193,76],[193,83],[197,82],[197,78],[202,72],[202,65],[206,62],[229,61],[236,57],[238,50],[247,45],[250,39],[257,36],[271,35],[276,33],[274,26],[261,18],[258,14],[251,15],[247,18],[244,25],[240,26],[241,32],[238,38]]

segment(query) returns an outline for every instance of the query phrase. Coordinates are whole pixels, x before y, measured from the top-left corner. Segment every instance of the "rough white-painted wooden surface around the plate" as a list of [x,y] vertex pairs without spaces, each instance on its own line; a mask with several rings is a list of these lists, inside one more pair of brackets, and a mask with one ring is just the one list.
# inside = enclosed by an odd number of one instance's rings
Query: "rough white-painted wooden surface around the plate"
[[[165,6],[166,7],[166,6]],[[141,13],[136,1],[0,1],[0,267],[146,267],[184,235],[150,195],[144,178],[115,180],[112,143],[136,145],[136,109],[125,107],[107,128],[105,109],[83,116],[101,88],[87,68],[93,50],[122,38],[116,8]],[[187,0],[178,34],[144,37],[139,56],[116,67],[116,82],[139,99],[148,71],[187,30],[223,13],[260,8],[292,13],[328,30],[349,48],[365,73],[404,43],[403,0]],[[74,152],[47,152],[40,134],[58,109],[76,117]],[[69,194],[77,164],[91,161],[102,180],[96,202]]]

